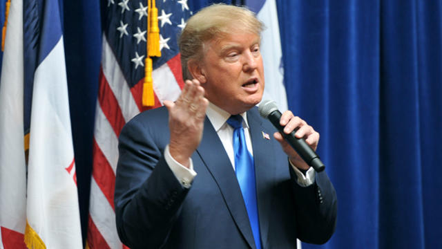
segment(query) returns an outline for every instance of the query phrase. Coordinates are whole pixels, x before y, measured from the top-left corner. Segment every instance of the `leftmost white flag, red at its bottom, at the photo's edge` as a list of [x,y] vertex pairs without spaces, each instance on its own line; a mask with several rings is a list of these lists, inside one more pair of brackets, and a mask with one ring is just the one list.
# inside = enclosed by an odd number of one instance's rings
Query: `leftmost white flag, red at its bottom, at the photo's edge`
[[10,3],[0,80],[0,248],[25,248],[23,2]]

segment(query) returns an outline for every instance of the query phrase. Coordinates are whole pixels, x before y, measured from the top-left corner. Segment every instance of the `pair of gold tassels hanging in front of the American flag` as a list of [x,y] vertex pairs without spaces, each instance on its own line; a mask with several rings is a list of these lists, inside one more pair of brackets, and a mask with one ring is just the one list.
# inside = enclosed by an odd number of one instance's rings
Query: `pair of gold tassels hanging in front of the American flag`
[[155,105],[155,96],[153,95],[153,80],[152,80],[152,59],[151,57],[161,56],[160,50],[160,28],[158,28],[158,9],[155,6],[155,0],[147,0],[148,16],[147,16],[147,44],[146,44],[146,59],[144,67],[144,84],[143,84],[143,99],[144,107],[153,107]]

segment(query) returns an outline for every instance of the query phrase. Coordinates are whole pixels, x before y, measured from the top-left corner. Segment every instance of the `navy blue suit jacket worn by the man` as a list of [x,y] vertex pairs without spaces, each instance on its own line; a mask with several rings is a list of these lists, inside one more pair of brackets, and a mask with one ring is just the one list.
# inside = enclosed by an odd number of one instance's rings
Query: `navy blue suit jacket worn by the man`
[[[186,189],[164,160],[168,111],[140,113],[119,136],[115,214],[120,239],[135,248],[256,248],[235,172],[211,122],[193,153],[198,175]],[[262,248],[325,243],[336,225],[336,192],[325,172],[300,187],[257,108],[247,112]],[[263,138],[262,131],[271,136]]]

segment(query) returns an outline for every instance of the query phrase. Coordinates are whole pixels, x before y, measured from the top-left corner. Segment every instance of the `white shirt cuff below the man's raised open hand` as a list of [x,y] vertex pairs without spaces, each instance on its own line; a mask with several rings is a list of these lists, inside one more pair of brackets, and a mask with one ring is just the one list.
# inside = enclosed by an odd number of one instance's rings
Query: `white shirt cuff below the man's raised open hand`
[[192,158],[189,158],[190,166],[188,169],[187,167],[184,167],[184,165],[178,163],[175,159],[173,159],[173,157],[171,156],[171,152],[169,152],[169,145],[167,145],[166,149],[164,149],[164,159],[166,160],[167,165],[169,165],[173,174],[181,183],[181,185],[186,188],[191,187],[193,178],[195,178],[195,176],[197,175],[196,172],[193,170]]

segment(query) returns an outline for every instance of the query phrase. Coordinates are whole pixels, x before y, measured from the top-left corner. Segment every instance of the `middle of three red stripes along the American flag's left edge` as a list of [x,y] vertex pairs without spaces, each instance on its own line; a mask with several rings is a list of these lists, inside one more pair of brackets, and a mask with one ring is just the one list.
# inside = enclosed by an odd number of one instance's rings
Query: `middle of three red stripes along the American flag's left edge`
[[93,165],[92,176],[115,212],[115,207],[113,204],[115,174],[111,165],[109,165],[106,156],[104,156],[103,151],[99,148],[95,138],[93,144]]

